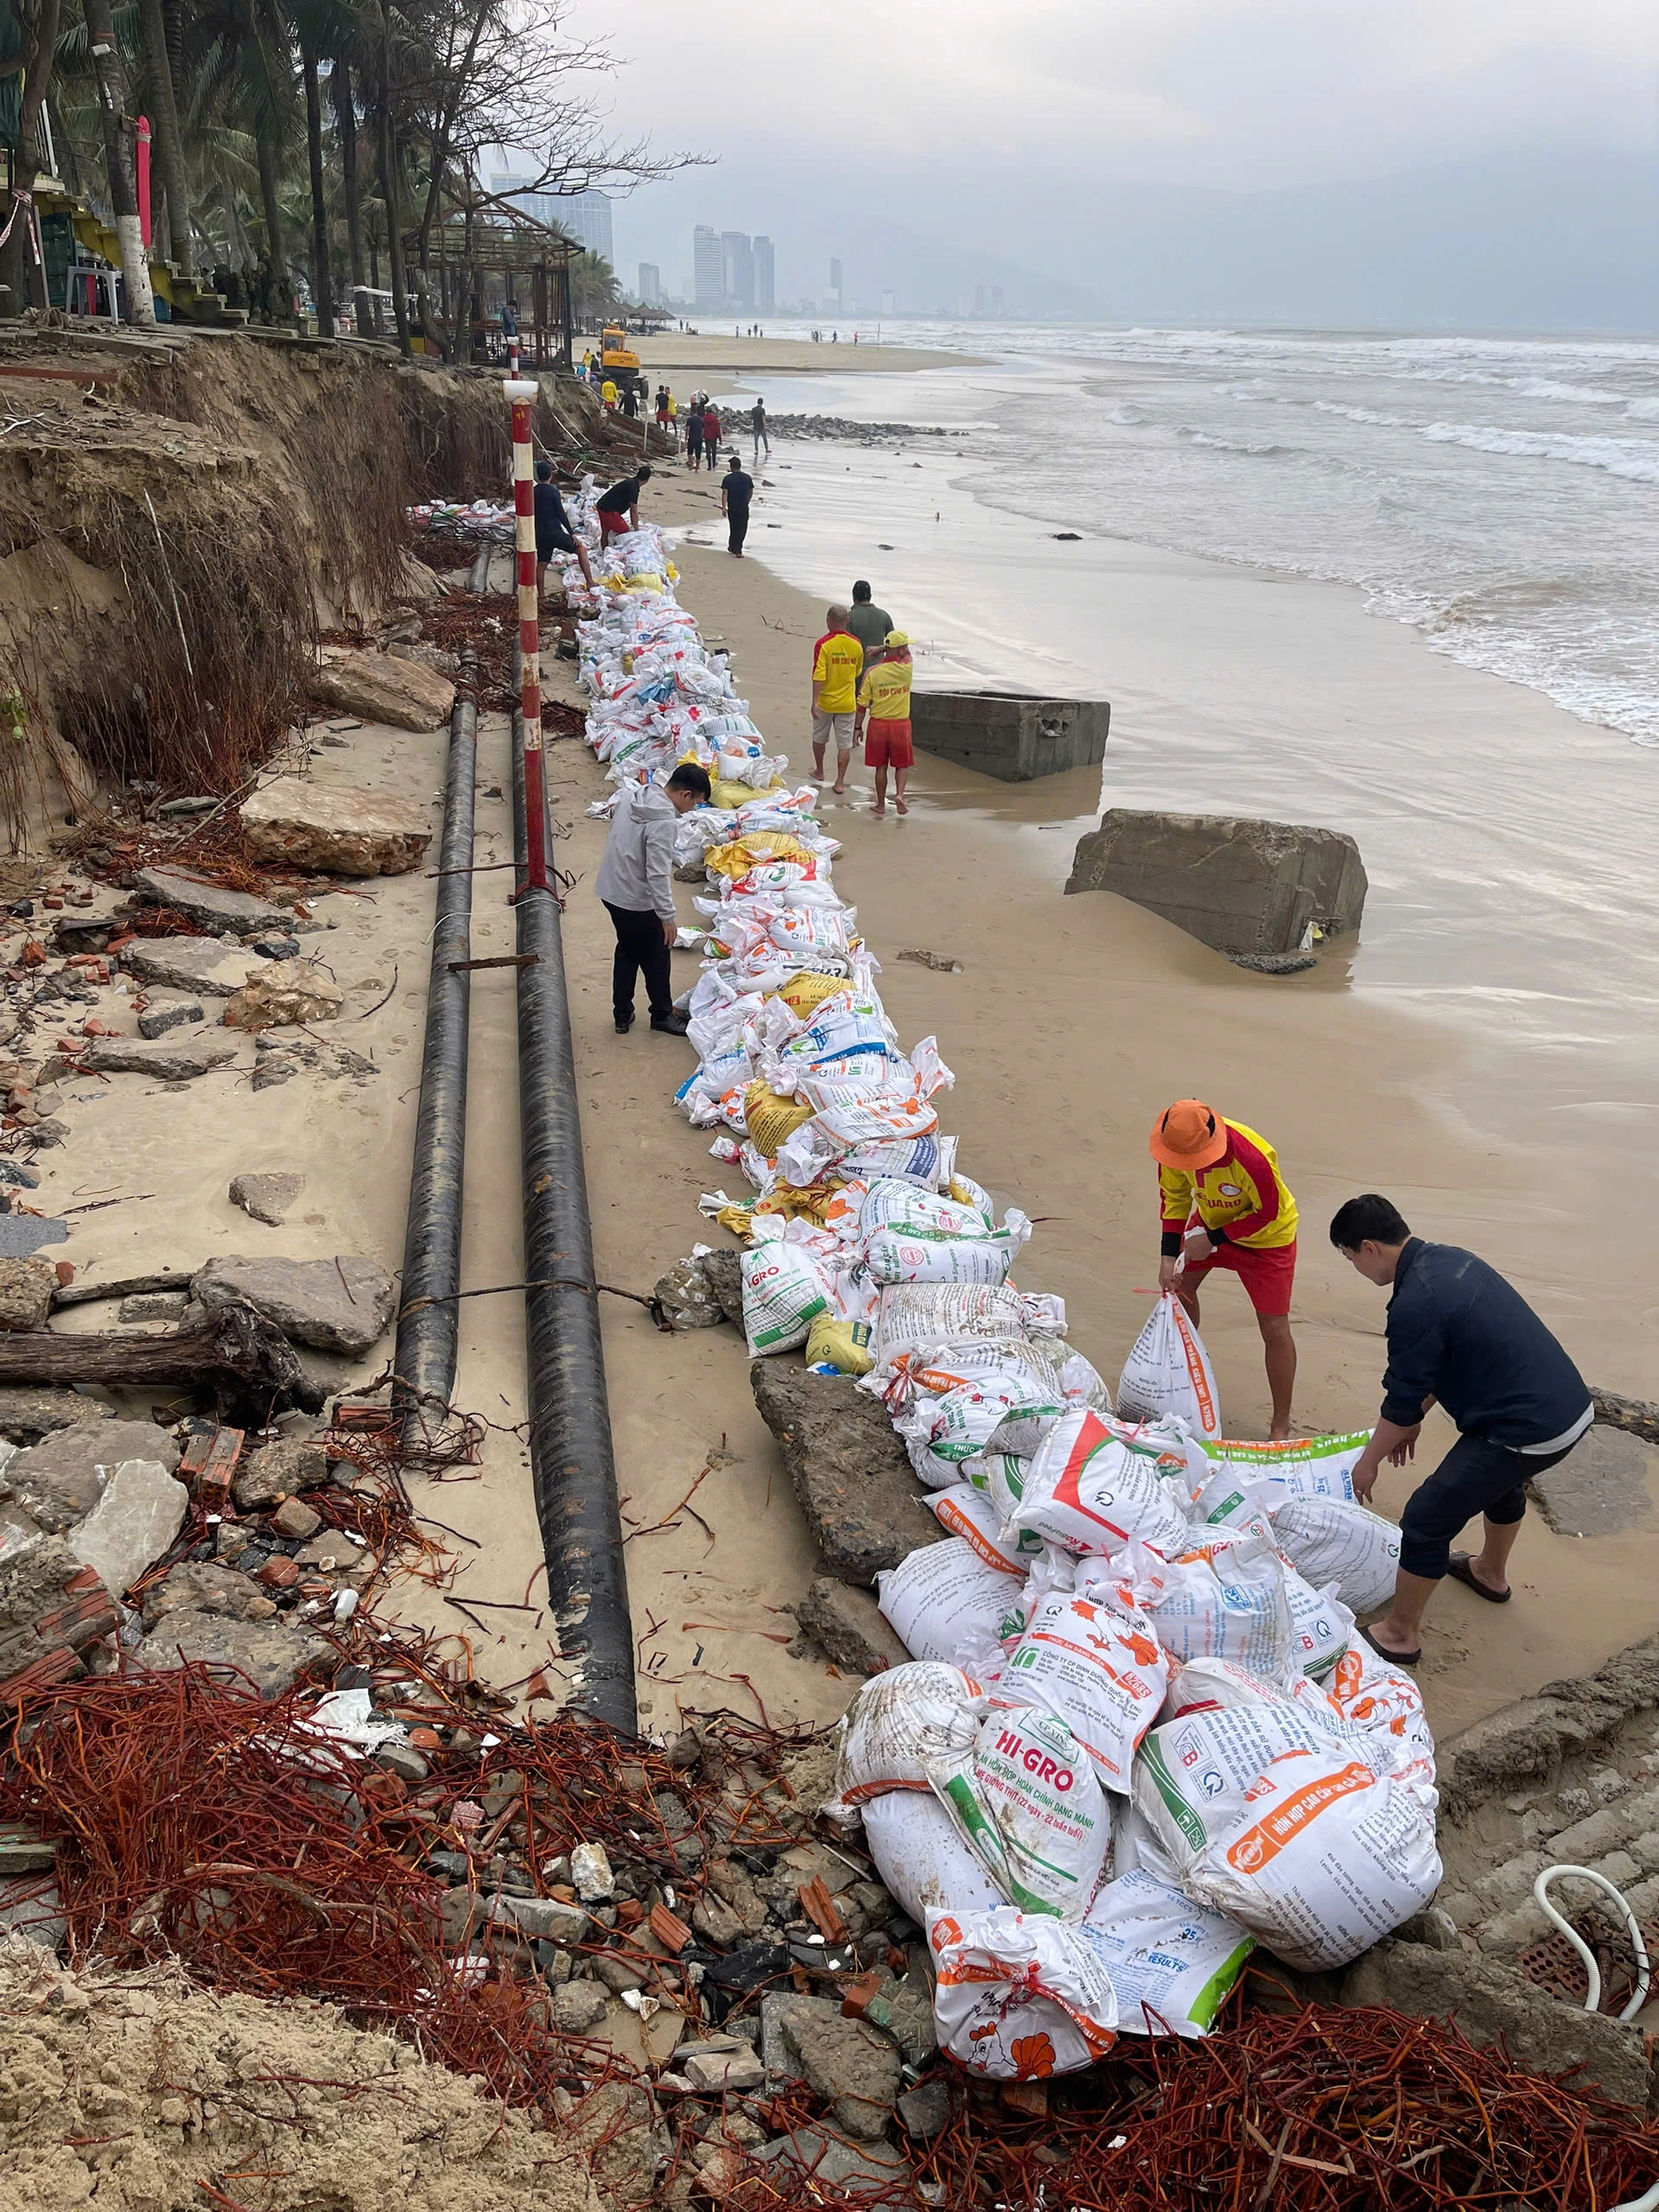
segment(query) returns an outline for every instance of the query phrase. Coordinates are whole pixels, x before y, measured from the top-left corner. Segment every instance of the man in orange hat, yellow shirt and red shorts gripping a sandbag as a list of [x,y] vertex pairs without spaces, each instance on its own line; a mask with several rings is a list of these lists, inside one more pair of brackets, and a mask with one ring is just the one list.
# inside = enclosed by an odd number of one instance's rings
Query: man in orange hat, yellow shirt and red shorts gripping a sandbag
[[1290,1287],[1296,1279],[1296,1201],[1279,1155],[1243,1121],[1225,1121],[1203,1099],[1177,1099],[1152,1124],[1164,1248],[1159,1290],[1172,1290],[1199,1325],[1199,1285],[1230,1267],[1256,1310],[1272,1394],[1270,1438],[1290,1436],[1296,1338]]

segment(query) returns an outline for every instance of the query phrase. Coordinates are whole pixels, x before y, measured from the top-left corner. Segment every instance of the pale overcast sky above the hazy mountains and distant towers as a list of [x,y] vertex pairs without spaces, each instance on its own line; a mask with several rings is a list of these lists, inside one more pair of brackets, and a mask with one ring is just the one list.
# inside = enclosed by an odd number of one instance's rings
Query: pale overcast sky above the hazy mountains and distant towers
[[1655,0],[573,0],[568,27],[624,64],[619,135],[719,157],[617,206],[622,274],[670,283],[712,221],[770,230],[794,290],[825,197],[1066,274],[1102,184],[1650,148],[1659,119]]

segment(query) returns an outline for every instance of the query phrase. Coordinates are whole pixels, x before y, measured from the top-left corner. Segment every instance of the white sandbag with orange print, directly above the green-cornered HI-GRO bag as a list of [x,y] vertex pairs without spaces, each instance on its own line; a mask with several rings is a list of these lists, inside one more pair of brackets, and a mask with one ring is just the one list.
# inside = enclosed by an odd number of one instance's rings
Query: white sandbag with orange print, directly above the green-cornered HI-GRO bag
[[1075,1590],[1026,1601],[1026,1632],[1009,1652],[991,1703],[1060,1714],[1106,1787],[1128,1796],[1130,1765],[1157,1721],[1168,1672],[1130,1584],[1091,1575]]

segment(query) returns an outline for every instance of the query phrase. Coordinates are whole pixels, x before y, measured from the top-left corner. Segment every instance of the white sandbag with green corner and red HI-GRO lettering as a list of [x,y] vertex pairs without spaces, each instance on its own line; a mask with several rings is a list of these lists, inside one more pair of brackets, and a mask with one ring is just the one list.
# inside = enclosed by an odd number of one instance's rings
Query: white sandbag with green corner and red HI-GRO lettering
[[1093,1761],[1053,1712],[991,1712],[969,1754],[925,1759],[933,1796],[998,1889],[1029,1913],[1082,1920],[1113,1816]]

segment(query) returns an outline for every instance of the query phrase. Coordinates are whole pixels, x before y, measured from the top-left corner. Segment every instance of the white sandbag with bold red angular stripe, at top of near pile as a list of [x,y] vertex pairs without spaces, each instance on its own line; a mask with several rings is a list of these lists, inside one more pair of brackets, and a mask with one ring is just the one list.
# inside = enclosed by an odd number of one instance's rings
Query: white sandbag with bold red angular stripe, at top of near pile
[[1166,1480],[1177,1469],[1186,1469],[1186,1453],[1170,1438],[1079,1407],[1062,1413],[1026,1462],[1009,1524],[1082,1553],[1128,1542],[1183,1551],[1192,1531],[1181,1491]]

